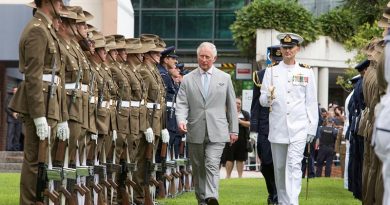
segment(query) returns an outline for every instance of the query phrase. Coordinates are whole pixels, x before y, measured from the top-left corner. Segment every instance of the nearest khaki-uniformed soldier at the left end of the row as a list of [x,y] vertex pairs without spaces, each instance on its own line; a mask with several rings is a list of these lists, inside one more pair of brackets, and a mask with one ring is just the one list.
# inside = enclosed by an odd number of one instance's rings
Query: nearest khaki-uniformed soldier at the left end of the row
[[37,11],[19,41],[19,69],[25,80],[9,104],[11,110],[24,118],[25,145],[19,202],[23,205],[34,204],[37,200],[38,151],[46,152],[39,150],[41,140],[50,137],[54,142],[56,135],[66,140],[69,135],[62,82],[64,63],[55,33],[57,15],[62,12],[63,5],[60,0],[34,2]]

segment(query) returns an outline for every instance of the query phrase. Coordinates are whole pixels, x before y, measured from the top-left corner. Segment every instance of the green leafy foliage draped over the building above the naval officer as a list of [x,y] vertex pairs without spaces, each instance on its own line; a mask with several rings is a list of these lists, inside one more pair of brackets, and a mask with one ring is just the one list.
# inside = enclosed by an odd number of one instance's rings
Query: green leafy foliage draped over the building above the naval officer
[[313,15],[296,1],[254,0],[236,12],[236,21],[230,26],[233,40],[244,55],[255,55],[259,28],[300,34],[305,39],[303,45],[315,41],[320,32]]

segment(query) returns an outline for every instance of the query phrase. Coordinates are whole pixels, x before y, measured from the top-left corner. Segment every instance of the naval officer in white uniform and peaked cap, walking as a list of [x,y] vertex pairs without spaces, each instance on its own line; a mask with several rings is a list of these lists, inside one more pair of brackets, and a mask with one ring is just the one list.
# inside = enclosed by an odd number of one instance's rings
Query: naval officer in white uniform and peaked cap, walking
[[269,141],[279,204],[299,204],[301,164],[306,143],[318,124],[318,102],[313,70],[296,62],[303,38],[293,33],[277,36],[283,61],[267,68],[260,104],[270,107]]

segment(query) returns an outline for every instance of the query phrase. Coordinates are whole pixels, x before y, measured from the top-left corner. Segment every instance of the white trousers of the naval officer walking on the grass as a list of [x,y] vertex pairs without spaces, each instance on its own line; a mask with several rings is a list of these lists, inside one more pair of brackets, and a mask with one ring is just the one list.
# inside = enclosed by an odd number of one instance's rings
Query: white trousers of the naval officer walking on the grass
[[271,143],[275,183],[280,205],[298,205],[302,184],[302,159],[306,140]]

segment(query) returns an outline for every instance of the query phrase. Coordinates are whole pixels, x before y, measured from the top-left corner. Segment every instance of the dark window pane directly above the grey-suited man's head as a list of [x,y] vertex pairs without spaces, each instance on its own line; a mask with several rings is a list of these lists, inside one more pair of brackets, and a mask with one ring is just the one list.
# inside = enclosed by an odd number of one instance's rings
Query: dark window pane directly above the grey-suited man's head
[[212,11],[179,11],[178,38],[212,38]]

